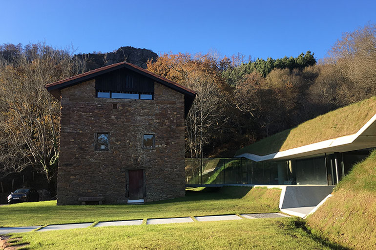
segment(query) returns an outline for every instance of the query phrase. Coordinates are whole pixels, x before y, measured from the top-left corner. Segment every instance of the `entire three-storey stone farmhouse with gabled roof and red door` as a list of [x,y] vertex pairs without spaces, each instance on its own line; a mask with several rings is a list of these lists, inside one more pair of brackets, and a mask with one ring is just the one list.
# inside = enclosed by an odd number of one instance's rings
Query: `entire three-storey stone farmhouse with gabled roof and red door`
[[61,101],[57,204],[185,195],[185,116],[195,92],[117,63],[45,86]]

